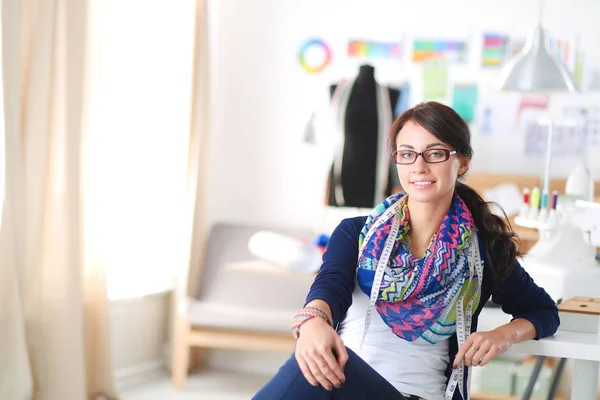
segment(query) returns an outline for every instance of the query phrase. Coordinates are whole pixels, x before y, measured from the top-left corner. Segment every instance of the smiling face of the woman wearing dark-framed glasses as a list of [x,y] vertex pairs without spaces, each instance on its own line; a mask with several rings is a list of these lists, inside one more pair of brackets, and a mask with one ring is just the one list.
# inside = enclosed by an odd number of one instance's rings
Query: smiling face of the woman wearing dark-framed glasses
[[[454,151],[454,149],[442,143],[422,126],[413,121],[408,121],[396,138],[396,150],[412,150],[421,153],[429,149],[440,149]],[[443,154],[435,153],[434,156]],[[410,154],[404,154],[409,157]],[[398,176],[402,188],[408,193],[413,201],[423,203],[437,203],[452,199],[454,185],[459,175],[467,171],[469,159],[455,153],[448,160],[440,163],[427,163],[423,156],[418,156],[412,164],[397,164]]]

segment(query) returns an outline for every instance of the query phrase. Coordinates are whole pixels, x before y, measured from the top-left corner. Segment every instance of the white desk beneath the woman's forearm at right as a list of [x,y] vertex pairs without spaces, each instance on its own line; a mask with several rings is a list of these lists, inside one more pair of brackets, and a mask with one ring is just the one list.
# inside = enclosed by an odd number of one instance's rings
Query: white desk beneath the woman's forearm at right
[[596,400],[600,335],[560,330],[554,336],[513,345],[508,354],[570,358],[575,361],[571,399]]

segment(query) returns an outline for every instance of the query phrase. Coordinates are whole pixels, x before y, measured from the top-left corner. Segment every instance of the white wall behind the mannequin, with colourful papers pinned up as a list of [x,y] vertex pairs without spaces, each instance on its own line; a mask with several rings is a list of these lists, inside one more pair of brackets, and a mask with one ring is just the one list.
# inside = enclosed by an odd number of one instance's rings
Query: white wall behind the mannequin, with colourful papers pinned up
[[[588,59],[600,59],[600,2],[546,1],[544,26],[558,35],[578,34]],[[302,143],[305,123],[329,83],[356,71],[343,59],[349,38],[470,35],[483,31],[526,36],[538,19],[538,1],[456,0],[235,0],[212,7],[212,144],[209,223],[218,220],[320,226],[328,159]],[[326,39],[334,61],[322,74],[304,73],[297,60],[310,36]],[[408,39],[408,40],[407,40]],[[474,49],[474,51],[476,51]],[[479,63],[454,68],[451,80],[471,79]],[[479,71],[479,68],[477,67]],[[378,68],[382,82],[414,78],[412,65]],[[494,72],[478,72],[480,83]],[[418,88],[419,79],[416,79]],[[414,101],[420,99],[414,98]],[[560,103],[560,98],[551,102]],[[543,161],[527,159],[523,140],[484,138],[473,126],[474,170],[541,174]],[[597,148],[598,149],[598,148]],[[556,162],[553,175],[567,176],[573,162]],[[600,161],[592,164],[600,177]]]

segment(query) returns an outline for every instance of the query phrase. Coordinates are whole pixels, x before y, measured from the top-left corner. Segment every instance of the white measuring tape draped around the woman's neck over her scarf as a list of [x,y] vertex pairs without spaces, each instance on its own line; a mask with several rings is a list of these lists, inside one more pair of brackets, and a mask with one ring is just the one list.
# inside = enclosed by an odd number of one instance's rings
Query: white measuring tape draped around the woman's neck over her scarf
[[[401,200],[396,202],[394,205],[389,207],[383,213],[381,218],[379,218],[378,221],[371,227],[371,229],[369,230],[369,232],[367,233],[367,236],[365,237],[365,239],[363,241],[363,247],[364,247],[366,245],[366,243],[368,243],[368,241],[371,238],[371,236],[373,235],[373,233],[381,225],[383,225],[386,221],[388,221],[390,218],[393,218],[390,232],[388,234],[388,237],[385,240],[383,252],[381,253],[381,257],[379,258],[379,262],[377,263],[375,277],[373,278],[373,285],[371,286],[371,296],[369,298],[369,308],[367,309],[367,313],[365,315],[365,328],[363,330],[363,335],[360,340],[360,345],[358,348],[359,355],[362,350],[362,346],[365,341],[365,338],[367,336],[367,332],[369,331],[369,328],[371,327],[371,317],[372,317],[373,307],[375,306],[375,303],[377,302],[377,298],[379,297],[379,289],[381,288],[381,281],[383,279],[383,274],[385,272],[385,268],[388,266],[389,260],[392,255],[392,250],[394,248],[394,242],[396,241],[396,236],[398,235],[398,229],[400,227],[400,220],[398,219],[396,214],[398,211],[398,205],[400,204],[400,201]],[[360,250],[361,251],[359,251],[359,254],[362,252],[362,249],[360,249]],[[458,339],[458,348],[459,349],[465,343],[466,339],[471,334],[471,324],[472,324],[472,320],[473,320],[473,306],[475,304],[475,299],[479,296],[479,293],[481,292],[481,287],[482,287],[483,264],[481,262],[481,257],[480,257],[480,252],[479,252],[479,242],[477,240],[476,232],[473,232],[473,234],[471,235],[469,248],[468,248],[467,262],[468,262],[468,266],[469,266],[469,278],[471,278],[471,279],[469,279],[469,286],[467,286],[467,290],[465,290],[464,293],[466,294],[469,292],[470,285],[473,283],[472,278],[475,274],[477,275],[477,288],[476,288],[477,290],[475,292],[475,295],[469,300],[466,310],[464,309],[465,294],[460,296],[460,298],[458,299],[458,301],[456,303],[456,325],[457,325],[456,326],[456,336]],[[470,378],[471,378],[471,375],[469,374],[469,380],[470,380]],[[448,386],[446,388],[446,393],[444,396],[445,400],[452,400],[452,397],[454,396],[454,392],[456,391],[456,387],[458,386],[459,382],[464,382],[464,360],[461,362],[461,364],[458,368],[452,370],[452,374],[448,381]],[[465,397],[462,386],[459,386],[459,392],[463,396],[463,399],[469,400],[469,385],[468,384],[467,384],[466,390],[467,390],[467,396]]]

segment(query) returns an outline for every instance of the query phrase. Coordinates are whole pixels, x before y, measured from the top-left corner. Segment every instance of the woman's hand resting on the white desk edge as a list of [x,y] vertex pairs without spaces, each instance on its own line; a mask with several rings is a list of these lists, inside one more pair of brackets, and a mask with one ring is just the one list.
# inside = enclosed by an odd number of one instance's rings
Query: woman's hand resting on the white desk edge
[[467,367],[483,367],[499,354],[506,352],[512,341],[503,330],[489,332],[473,332],[458,350],[453,366],[458,368],[464,359]]

